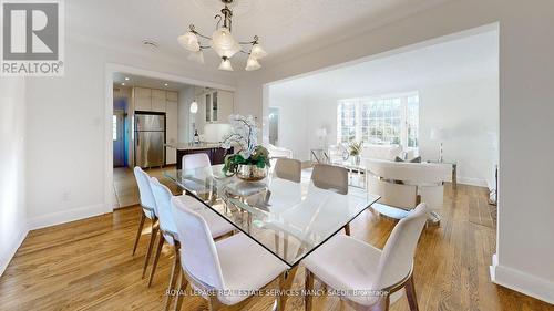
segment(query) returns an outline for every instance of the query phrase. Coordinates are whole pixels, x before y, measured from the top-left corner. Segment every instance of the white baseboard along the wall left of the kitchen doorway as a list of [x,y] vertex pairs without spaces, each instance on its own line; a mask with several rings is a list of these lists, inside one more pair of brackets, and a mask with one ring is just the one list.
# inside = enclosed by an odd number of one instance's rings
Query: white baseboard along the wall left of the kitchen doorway
[[[109,210],[111,211],[111,210]],[[81,208],[72,208],[66,210],[61,210],[39,217],[33,217],[28,220],[29,229],[40,229],[44,227],[50,227],[54,225],[60,225],[64,222],[70,222],[74,220],[80,220],[93,216],[99,216],[109,212],[104,204],[91,205]]]

